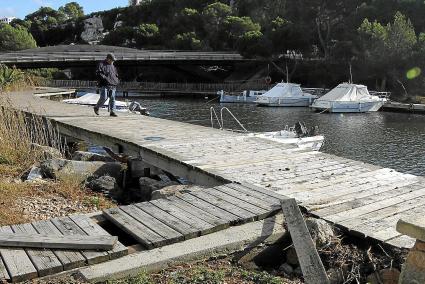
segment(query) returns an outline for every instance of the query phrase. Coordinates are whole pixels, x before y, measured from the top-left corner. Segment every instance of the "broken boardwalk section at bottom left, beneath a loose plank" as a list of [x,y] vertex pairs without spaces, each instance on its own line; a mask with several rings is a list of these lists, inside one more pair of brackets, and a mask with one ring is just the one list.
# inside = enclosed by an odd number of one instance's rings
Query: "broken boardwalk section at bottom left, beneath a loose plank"
[[[29,235],[109,235],[85,215],[55,218],[30,224],[0,227],[0,232]],[[56,274],[84,265],[96,264],[127,255],[127,248],[117,243],[111,251],[0,248],[0,282],[21,282]]]

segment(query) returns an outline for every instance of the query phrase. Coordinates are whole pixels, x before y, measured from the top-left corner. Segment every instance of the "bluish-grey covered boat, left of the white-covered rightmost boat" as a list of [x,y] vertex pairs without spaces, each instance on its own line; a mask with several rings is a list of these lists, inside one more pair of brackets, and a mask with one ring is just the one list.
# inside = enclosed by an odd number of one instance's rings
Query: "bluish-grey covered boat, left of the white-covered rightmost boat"
[[258,106],[308,107],[316,98],[315,95],[304,93],[299,84],[278,83],[258,96],[255,103]]

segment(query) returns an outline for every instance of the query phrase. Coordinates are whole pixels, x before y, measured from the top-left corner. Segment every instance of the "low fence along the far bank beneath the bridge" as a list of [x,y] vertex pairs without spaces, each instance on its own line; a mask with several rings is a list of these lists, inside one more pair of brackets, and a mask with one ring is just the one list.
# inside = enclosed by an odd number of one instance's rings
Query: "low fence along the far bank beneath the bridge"
[[[73,89],[95,89],[96,81],[79,80],[46,80],[42,82],[47,87],[73,88]],[[267,90],[269,86],[264,80],[249,82],[233,81],[224,83],[160,83],[160,82],[122,82],[118,87],[123,91],[181,91],[181,92],[205,92],[216,93],[224,90],[226,92],[240,92],[243,90]]]

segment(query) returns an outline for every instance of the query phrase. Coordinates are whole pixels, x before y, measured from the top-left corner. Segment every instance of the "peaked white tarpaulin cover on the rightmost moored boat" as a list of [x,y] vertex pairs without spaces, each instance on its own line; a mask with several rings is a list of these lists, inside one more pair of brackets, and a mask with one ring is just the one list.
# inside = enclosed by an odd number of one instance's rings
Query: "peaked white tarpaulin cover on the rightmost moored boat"
[[343,83],[333,88],[317,101],[353,102],[353,101],[379,101],[379,97],[369,94],[367,87]]

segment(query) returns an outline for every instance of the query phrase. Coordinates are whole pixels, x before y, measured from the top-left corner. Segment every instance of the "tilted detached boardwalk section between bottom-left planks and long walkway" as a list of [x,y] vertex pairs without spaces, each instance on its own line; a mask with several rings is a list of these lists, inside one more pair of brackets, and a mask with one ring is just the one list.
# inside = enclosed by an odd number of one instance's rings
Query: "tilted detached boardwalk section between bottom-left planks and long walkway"
[[273,216],[285,198],[260,187],[228,184],[103,214],[145,247],[155,248]]

